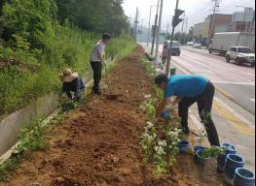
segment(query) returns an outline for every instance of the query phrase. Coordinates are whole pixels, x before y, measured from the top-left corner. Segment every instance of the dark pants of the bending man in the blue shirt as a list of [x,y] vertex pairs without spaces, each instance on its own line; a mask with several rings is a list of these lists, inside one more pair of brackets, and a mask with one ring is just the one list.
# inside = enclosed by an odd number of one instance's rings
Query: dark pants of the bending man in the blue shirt
[[[181,117],[181,124],[183,127],[188,127],[188,115],[189,115],[189,108],[196,102],[199,106],[199,112],[201,115],[201,120],[205,120],[203,118],[205,115],[204,113],[211,112],[213,98],[215,94],[215,87],[211,82],[208,82],[206,88],[201,93],[199,97],[196,98],[183,98],[183,100],[179,103],[179,116]],[[204,115],[204,116],[203,116]],[[211,116],[208,115],[206,119],[205,130],[207,132],[208,140],[211,145],[220,145],[218,133],[216,127],[211,119]]]

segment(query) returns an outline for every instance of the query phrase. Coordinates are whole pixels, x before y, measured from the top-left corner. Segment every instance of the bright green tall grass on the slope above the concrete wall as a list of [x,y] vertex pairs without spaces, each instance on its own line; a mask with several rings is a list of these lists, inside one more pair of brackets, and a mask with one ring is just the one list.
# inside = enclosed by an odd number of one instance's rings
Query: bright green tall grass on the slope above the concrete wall
[[[47,37],[45,37],[47,38]],[[80,75],[90,70],[91,48],[98,36],[71,26],[55,26],[55,38],[46,39],[42,50],[27,49],[25,41],[18,39],[22,48],[6,48],[0,44],[0,117],[24,108],[33,100],[52,91],[61,90],[57,77],[66,67]],[[135,47],[126,35],[113,39],[107,47],[107,56],[118,60]],[[21,65],[1,69],[1,61],[16,59]]]

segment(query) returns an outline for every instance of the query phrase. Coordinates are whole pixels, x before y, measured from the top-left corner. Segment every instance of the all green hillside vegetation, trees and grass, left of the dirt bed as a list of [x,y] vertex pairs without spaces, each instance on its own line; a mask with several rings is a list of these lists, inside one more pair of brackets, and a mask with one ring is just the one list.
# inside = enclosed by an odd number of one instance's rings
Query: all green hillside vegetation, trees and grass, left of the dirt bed
[[[101,32],[108,31],[115,37],[107,48],[108,57],[115,55],[120,59],[127,55],[135,45],[127,35],[128,21],[121,3],[121,0],[1,1],[0,116],[23,108],[51,91],[59,91],[57,75],[63,68],[79,74],[89,71],[91,47]],[[102,11],[108,16],[102,15]]]

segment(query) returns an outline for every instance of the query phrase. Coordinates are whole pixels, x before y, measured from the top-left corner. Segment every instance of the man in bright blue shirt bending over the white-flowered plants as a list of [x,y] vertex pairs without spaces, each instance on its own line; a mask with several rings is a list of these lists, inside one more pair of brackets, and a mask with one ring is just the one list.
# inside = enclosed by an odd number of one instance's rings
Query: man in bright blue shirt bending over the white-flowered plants
[[[164,100],[157,109],[157,118],[161,118],[165,106],[169,104],[170,98],[176,96],[177,99],[172,104],[178,104],[183,131],[188,135],[190,133],[188,127],[189,108],[197,102],[201,120],[204,121],[210,144],[214,146],[220,145],[216,127],[210,116],[215,87],[207,78],[191,75],[176,75],[167,78],[165,75],[160,75],[155,78],[155,83],[165,92]],[[205,113],[207,113],[206,121]]]

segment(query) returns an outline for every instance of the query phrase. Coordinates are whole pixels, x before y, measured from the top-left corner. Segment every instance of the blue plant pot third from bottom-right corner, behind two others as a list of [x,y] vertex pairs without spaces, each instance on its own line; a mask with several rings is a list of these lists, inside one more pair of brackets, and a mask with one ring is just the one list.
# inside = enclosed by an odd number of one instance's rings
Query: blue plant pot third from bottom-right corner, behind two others
[[226,164],[227,156],[229,154],[237,154],[238,150],[233,144],[227,143],[227,142],[221,143],[221,147],[227,148],[226,153],[219,155],[217,158],[217,161],[218,161],[217,171],[220,173],[223,173],[225,171],[225,164]]

